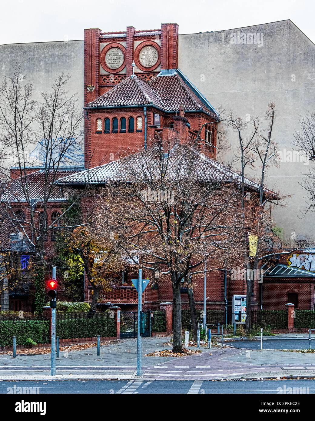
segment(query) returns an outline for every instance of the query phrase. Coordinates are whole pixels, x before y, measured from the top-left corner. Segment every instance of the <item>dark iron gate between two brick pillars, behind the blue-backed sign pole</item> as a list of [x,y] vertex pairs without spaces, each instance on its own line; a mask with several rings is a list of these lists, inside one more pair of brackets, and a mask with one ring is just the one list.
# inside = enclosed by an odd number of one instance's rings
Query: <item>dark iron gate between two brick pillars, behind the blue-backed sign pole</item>
[[[151,336],[151,312],[141,312],[141,336]],[[136,338],[138,312],[120,312],[120,338]]]

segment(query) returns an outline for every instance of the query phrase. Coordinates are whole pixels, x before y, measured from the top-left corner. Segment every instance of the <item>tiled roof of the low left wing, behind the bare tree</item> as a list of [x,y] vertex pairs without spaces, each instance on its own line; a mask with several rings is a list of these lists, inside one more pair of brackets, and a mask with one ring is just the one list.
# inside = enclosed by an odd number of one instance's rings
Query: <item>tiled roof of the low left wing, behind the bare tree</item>
[[[80,171],[79,168],[77,169],[60,169],[57,170],[56,176],[54,176],[53,171],[50,171],[48,174],[48,183],[52,183],[55,179],[59,177],[69,176],[73,173]],[[44,197],[44,187],[45,187],[45,170],[35,171],[34,173],[27,174],[25,180],[23,179],[23,184],[20,178],[12,181],[8,188],[5,189],[1,196],[2,201],[10,200],[11,202],[25,201],[25,195],[23,191],[23,187],[27,187],[28,195],[30,199],[35,199],[38,201],[43,200]],[[66,200],[64,197],[64,193],[60,191],[59,186],[53,184],[52,193],[50,195],[50,201],[63,201]]]

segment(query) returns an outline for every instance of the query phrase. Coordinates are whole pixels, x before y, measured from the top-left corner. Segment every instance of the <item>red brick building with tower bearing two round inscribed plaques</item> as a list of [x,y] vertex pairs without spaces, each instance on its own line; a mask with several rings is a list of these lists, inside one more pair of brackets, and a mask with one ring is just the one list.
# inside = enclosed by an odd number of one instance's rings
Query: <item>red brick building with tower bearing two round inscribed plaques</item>
[[[63,176],[59,186],[82,188],[88,183],[101,183],[120,153],[147,148],[157,136],[168,139],[175,134],[194,140],[201,130],[203,150],[209,163],[215,162],[218,116],[208,99],[178,69],[177,24],[149,30],[127,27],[123,32],[85,29],[84,92],[85,170]],[[233,176],[238,178],[236,173]],[[257,187],[250,180],[246,183],[248,189]],[[288,262],[283,261],[277,273],[273,263],[269,266],[264,281],[255,282],[254,309],[283,310],[290,300],[297,300],[299,309],[313,309],[315,284],[311,271],[299,269],[289,276]],[[137,293],[131,278],[135,275],[122,273],[121,285],[102,294],[99,304],[134,307]],[[152,273],[144,276],[152,279]],[[194,292],[197,308],[201,309],[203,277]],[[235,296],[246,296],[245,280],[232,281],[224,271],[207,274],[207,309],[232,309]],[[142,300],[144,308],[151,309],[171,301],[170,283],[152,279]],[[87,283],[85,301],[91,301]],[[185,288],[182,304],[188,308]]]

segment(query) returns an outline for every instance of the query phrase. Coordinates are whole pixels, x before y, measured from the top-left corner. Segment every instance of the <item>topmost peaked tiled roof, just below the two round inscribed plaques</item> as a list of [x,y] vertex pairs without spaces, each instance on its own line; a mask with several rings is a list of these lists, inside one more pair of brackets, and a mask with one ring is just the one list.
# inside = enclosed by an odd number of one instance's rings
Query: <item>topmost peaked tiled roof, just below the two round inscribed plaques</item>
[[178,69],[168,70],[153,77],[149,82],[137,76],[127,77],[114,88],[87,107],[119,107],[152,104],[165,111],[176,112],[179,106],[184,111],[204,111],[216,116],[211,104],[199,93],[192,83]]

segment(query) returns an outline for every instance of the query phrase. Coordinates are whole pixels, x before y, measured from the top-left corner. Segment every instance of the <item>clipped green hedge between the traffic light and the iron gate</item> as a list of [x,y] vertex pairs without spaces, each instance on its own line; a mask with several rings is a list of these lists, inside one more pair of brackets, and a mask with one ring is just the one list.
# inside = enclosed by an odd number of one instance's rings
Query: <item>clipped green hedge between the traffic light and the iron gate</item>
[[106,314],[106,317],[57,320],[56,335],[60,339],[116,336],[116,324],[109,314]]

